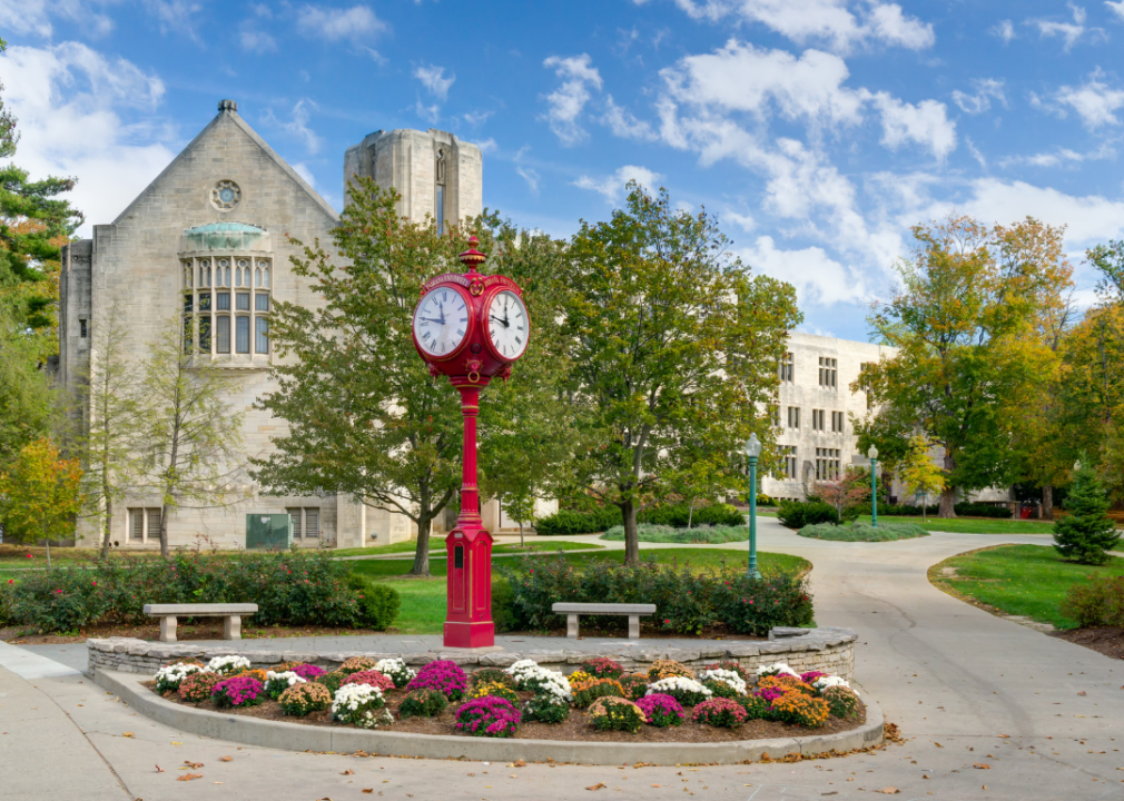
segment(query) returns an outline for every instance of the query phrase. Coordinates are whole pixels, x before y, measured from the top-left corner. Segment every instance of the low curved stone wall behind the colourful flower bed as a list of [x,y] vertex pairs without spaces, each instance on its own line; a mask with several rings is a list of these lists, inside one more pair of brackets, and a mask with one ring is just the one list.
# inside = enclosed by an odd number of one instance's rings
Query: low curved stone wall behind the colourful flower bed
[[[531,639],[531,638],[528,638]],[[851,629],[773,629],[765,640],[698,640],[688,648],[645,648],[641,645],[607,645],[598,656],[608,656],[619,662],[628,672],[643,672],[655,659],[676,659],[689,667],[701,667],[722,659],[736,661],[743,667],[756,668],[774,662],[787,662],[794,670],[823,671],[851,680],[854,675],[854,643],[856,635]],[[623,640],[627,641],[627,640]],[[529,643],[528,643],[529,645]],[[589,653],[574,650],[522,652],[429,650],[417,653],[375,652],[326,652],[307,650],[256,650],[253,640],[232,640],[220,646],[200,646],[191,643],[148,643],[140,639],[112,637],[88,639],[88,672],[97,676],[98,671],[117,671],[153,675],[163,665],[180,659],[207,661],[214,656],[237,654],[248,658],[254,667],[269,668],[279,662],[310,662],[332,670],[352,656],[370,656],[377,659],[400,656],[415,668],[434,659],[452,659],[471,673],[479,667],[507,667],[517,659],[534,659],[544,667],[572,673]]]

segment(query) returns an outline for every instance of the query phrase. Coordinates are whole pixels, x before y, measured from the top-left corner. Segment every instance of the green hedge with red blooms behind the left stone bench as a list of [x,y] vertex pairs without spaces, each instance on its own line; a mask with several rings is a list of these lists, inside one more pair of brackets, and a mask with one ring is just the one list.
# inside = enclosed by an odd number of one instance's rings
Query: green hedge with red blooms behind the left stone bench
[[0,585],[0,623],[75,631],[96,623],[149,623],[145,603],[256,603],[253,626],[386,629],[398,613],[393,588],[351,576],[327,554],[290,552],[171,559],[99,561],[89,570],[28,572]]

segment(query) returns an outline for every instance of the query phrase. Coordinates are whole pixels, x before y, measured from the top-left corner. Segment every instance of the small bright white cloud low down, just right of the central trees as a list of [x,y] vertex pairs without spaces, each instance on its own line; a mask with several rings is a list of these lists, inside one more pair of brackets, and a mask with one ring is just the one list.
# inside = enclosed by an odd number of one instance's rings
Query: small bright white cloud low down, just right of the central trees
[[756,272],[796,286],[801,306],[854,303],[868,294],[862,273],[831,258],[822,247],[783,251],[771,236],[761,236],[751,247],[734,253]]

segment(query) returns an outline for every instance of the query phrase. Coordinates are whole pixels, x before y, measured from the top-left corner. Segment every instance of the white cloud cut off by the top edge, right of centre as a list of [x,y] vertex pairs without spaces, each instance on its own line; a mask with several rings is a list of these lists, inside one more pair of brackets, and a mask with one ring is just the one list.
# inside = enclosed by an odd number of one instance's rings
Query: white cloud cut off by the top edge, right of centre
[[676,0],[676,4],[696,19],[717,21],[736,15],[761,22],[797,44],[822,42],[839,53],[874,43],[925,49],[936,40],[932,25],[906,17],[897,3],[878,0],[860,6],[862,18],[847,8],[847,0]]

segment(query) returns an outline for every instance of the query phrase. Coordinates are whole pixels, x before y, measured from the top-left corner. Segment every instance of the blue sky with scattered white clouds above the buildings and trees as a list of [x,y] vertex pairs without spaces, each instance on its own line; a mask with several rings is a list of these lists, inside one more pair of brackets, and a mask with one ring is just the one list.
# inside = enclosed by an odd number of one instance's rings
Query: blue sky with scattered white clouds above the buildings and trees
[[484,206],[555,236],[635,179],[718,217],[813,334],[869,338],[910,227],[1124,238],[1124,0],[0,0],[16,162],[112,219],[223,98],[337,209],[344,151],[439,128]]

